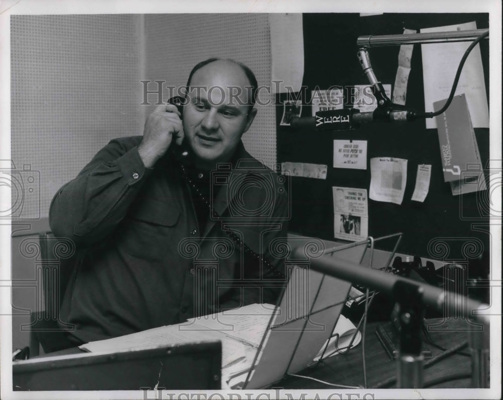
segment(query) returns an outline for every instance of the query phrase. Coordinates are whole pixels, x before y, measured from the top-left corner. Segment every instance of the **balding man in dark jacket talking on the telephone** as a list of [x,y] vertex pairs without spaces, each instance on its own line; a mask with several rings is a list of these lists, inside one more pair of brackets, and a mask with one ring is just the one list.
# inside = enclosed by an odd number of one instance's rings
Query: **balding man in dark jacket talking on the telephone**
[[56,193],[51,229],[78,249],[60,310],[70,343],[276,302],[285,271],[270,245],[289,207],[284,177],[241,142],[256,93],[245,65],[205,60],[180,110],[158,106],[143,136],[112,140]]

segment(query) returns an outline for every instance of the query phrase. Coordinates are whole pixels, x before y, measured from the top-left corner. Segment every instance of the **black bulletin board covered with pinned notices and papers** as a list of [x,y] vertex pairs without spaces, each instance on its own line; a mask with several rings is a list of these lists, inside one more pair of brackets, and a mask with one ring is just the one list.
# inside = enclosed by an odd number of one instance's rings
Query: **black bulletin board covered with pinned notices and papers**
[[[357,58],[357,38],[363,35],[402,34],[403,29],[446,26],[475,21],[477,29],[488,28],[488,14],[304,14],[304,93],[316,86],[367,85]],[[489,94],[488,40],[480,43],[487,97]],[[369,48],[374,72],[383,84],[395,82],[399,46]],[[453,69],[457,65],[452,65]],[[450,86],[451,83],[448,83]],[[303,95],[302,95],[303,96]],[[277,104],[287,100],[277,95]],[[306,101],[307,100],[307,101]],[[489,99],[487,98],[487,101]],[[311,116],[309,99],[302,98],[302,117]],[[421,45],[414,45],[405,108],[425,110]],[[332,187],[370,188],[370,158],[407,159],[407,182],[401,205],[368,199],[368,233],[374,237],[403,232],[401,253],[443,260],[465,260],[489,251],[487,207],[475,192],[453,196],[444,182],[437,129],[426,129],[425,120],[406,123],[373,123],[349,131],[320,132],[281,125],[283,106],[277,105],[278,163],[313,163],[328,166],[326,179],[292,177],[290,231],[334,239]],[[489,129],[476,128],[482,166],[489,157]],[[367,169],[333,168],[333,140],[367,141]],[[432,166],[429,193],[424,202],[412,201],[417,166]],[[488,184],[488,174],[485,174]],[[485,191],[487,192],[487,191]],[[485,228],[475,228],[473,223]],[[486,231],[484,231],[486,229]],[[477,249],[467,252],[472,238]],[[459,240],[460,239],[460,240]],[[435,243],[444,242],[441,250]],[[389,249],[384,249],[389,250]]]

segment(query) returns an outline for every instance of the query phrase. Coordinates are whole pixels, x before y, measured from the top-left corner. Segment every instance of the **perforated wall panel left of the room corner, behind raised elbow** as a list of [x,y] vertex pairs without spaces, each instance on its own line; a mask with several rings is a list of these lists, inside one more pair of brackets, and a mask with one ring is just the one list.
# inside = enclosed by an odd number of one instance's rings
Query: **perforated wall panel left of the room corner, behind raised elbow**
[[138,18],[11,17],[11,157],[40,173],[21,217],[46,217],[58,188],[110,139],[142,133]]

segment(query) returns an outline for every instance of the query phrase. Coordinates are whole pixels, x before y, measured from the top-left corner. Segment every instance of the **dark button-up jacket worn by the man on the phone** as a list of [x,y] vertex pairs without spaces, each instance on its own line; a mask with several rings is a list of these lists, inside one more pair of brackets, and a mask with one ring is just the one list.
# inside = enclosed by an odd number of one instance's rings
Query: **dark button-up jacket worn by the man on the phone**
[[269,249],[286,239],[283,177],[240,143],[241,162],[212,173],[216,214],[199,232],[183,162],[168,152],[146,169],[140,141],[112,140],[51,203],[52,231],[78,249],[60,310],[76,342],[274,303],[285,283],[282,261]]

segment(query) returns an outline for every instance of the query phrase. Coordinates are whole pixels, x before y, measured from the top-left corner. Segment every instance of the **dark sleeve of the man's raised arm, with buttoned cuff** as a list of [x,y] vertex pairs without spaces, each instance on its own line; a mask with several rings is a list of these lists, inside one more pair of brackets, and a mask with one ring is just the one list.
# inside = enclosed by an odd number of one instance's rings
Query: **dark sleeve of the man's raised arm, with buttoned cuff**
[[49,224],[56,236],[87,246],[113,232],[151,171],[143,165],[136,141],[110,141],[75,179],[58,190],[49,210]]

